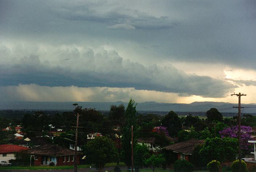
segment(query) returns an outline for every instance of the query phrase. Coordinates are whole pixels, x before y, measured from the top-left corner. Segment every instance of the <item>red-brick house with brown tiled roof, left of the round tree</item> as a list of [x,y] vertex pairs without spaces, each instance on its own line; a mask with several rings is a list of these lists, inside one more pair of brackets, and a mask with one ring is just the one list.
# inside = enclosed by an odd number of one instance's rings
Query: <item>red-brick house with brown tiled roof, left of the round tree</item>
[[[75,151],[57,145],[43,145],[27,150],[27,153],[34,156],[35,165],[74,165]],[[77,164],[83,153],[77,152]]]

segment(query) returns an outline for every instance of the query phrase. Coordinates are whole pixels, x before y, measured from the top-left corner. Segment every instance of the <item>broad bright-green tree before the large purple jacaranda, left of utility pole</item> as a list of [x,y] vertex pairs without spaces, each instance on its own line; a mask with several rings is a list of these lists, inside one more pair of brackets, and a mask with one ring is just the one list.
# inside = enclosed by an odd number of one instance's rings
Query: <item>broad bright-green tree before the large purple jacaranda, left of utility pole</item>
[[220,162],[233,161],[238,152],[238,140],[236,138],[207,138],[199,154],[205,165],[215,159]]

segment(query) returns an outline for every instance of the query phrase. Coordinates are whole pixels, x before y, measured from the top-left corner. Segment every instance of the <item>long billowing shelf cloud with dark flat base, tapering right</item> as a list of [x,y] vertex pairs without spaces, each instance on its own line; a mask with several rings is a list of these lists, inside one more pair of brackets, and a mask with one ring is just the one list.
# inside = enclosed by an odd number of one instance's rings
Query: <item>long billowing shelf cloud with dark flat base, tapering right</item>
[[[17,58],[7,47],[1,47],[0,86],[37,84],[45,86],[119,87],[172,92],[203,97],[223,97],[235,85],[209,76],[189,75],[175,67],[144,66],[124,60],[116,51],[79,50],[71,46],[54,50],[52,61],[37,54]],[[43,53],[39,53],[40,55]],[[23,57],[22,57],[23,56]]]

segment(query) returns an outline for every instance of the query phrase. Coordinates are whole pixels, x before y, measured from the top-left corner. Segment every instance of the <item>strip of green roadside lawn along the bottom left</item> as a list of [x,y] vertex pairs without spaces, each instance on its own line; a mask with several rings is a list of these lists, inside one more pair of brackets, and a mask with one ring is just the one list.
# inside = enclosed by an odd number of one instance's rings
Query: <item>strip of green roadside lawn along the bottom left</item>
[[[119,166],[124,166],[125,164],[123,162],[119,163]],[[77,165],[77,168],[90,168],[90,166],[94,167],[93,165]],[[107,163],[105,167],[115,167],[117,166],[116,163]],[[37,169],[73,169],[74,165],[67,165],[67,166],[31,166],[31,167],[1,167],[0,169],[23,169],[23,170],[37,170]]]

